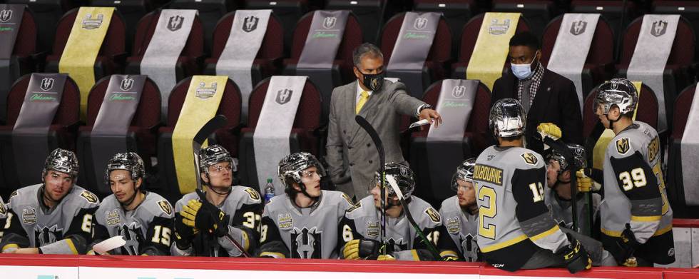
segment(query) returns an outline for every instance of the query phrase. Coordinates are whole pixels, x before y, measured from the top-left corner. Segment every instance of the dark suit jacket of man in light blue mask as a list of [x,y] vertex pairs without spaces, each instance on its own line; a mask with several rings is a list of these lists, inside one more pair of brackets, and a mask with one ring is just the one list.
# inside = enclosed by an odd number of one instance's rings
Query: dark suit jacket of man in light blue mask
[[[518,79],[507,73],[498,78],[493,85],[492,107],[501,98],[519,100],[517,93]],[[539,89],[534,96],[534,103],[526,116],[526,141],[534,142],[534,133],[539,123],[554,123],[563,133],[563,142],[583,144],[583,117],[580,112],[578,95],[573,81],[564,76],[544,70]]]

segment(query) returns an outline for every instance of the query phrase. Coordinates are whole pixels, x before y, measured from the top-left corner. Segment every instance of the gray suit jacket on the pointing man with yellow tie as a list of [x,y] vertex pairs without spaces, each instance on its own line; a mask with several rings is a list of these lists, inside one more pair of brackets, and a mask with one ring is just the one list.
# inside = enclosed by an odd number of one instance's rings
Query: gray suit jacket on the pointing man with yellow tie
[[[326,160],[330,178],[338,190],[350,192],[354,189],[359,201],[369,196],[369,183],[379,169],[379,154],[369,134],[354,121],[357,86],[357,81],[353,81],[332,91]],[[417,108],[424,104],[409,96],[406,90],[403,83],[384,81],[382,88],[374,91],[359,111],[379,133],[387,163],[406,163],[399,145],[400,118],[401,115],[414,116]]]

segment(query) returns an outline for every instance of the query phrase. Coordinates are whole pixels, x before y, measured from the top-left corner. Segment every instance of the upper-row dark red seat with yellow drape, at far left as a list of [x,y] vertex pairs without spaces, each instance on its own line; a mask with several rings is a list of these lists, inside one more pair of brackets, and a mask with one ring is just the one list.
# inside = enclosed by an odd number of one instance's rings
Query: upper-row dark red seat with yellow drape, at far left
[[[71,36],[73,22],[78,16],[78,9],[68,11],[56,28],[56,42],[53,44],[53,54],[46,57],[46,72],[58,73],[58,61],[61,60],[63,49],[66,48],[68,37]],[[113,73],[120,73],[123,69],[123,59],[126,58],[124,40],[126,39],[126,26],[118,11],[112,14],[109,29],[104,36],[102,47],[95,59],[95,80]]]

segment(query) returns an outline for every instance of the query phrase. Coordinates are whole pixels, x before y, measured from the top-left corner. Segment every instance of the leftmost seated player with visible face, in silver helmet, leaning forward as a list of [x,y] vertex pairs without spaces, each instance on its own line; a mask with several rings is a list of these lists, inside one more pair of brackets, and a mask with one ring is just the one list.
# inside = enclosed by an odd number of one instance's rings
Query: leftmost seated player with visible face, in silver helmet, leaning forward
[[51,151],[41,177],[44,183],[10,195],[2,253],[85,254],[99,200],[75,185],[75,153],[60,148]]

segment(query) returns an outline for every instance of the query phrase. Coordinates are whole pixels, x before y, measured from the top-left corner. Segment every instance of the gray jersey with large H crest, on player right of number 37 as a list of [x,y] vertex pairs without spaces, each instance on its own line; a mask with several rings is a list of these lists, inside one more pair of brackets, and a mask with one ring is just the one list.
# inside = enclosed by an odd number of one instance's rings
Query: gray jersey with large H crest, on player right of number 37
[[310,208],[299,208],[287,195],[272,198],[262,214],[260,256],[336,259],[338,226],[352,207],[340,191],[323,190]]

